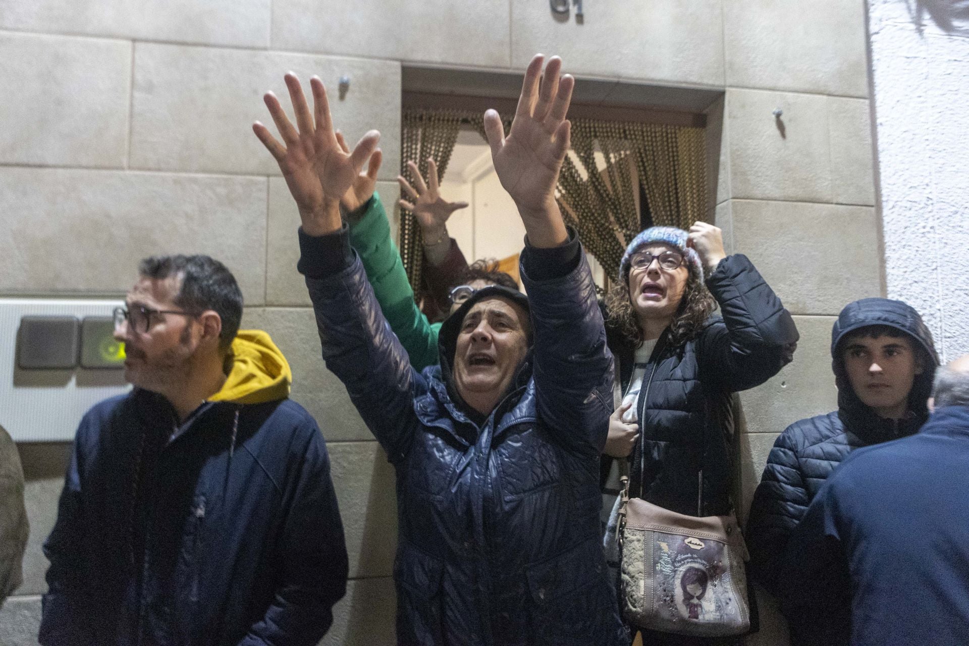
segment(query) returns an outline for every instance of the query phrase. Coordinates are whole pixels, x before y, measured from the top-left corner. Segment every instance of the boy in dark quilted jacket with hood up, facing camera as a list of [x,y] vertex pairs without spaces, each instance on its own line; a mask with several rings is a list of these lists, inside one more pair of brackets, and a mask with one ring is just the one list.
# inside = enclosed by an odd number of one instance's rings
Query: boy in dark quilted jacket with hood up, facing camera
[[[938,364],[931,333],[906,303],[863,298],[841,310],[831,329],[838,410],[801,419],[781,433],[750,509],[752,573],[774,596],[797,586],[781,580],[782,563],[797,523],[825,480],[856,448],[919,430],[928,417]],[[797,634],[792,643],[801,643]]]

